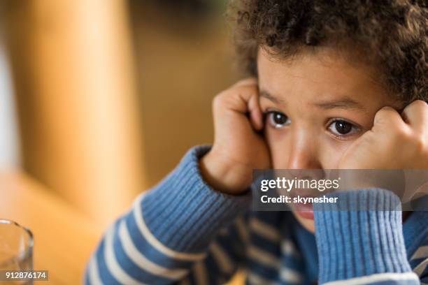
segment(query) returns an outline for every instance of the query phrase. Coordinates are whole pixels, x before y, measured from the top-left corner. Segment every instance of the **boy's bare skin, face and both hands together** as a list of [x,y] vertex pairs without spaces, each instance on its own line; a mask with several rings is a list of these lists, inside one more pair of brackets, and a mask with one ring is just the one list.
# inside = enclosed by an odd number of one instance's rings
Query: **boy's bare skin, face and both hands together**
[[[257,66],[258,80],[238,82],[213,101],[215,140],[201,173],[218,191],[242,193],[256,168],[428,168],[427,103],[397,112],[404,106],[372,66],[331,49],[292,61],[260,49]],[[311,217],[294,215],[315,232]]]

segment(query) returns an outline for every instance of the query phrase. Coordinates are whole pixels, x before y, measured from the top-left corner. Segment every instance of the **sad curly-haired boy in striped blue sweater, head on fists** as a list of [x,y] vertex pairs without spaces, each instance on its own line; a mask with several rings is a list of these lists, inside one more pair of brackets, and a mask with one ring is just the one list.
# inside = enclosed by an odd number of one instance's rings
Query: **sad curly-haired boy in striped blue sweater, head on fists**
[[[222,284],[242,267],[249,284],[428,283],[427,212],[255,212],[248,191],[253,169],[428,168],[427,3],[241,0],[230,15],[254,78],[215,97],[213,146],[136,199],[85,282]],[[398,199],[341,193],[362,198]]]

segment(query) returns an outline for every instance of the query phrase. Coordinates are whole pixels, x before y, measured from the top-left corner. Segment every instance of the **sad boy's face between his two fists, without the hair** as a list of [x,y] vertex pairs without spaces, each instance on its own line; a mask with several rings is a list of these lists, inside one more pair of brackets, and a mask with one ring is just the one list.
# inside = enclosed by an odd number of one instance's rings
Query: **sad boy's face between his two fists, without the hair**
[[[265,136],[276,169],[335,169],[345,150],[369,131],[380,108],[400,108],[376,71],[332,50],[294,61],[257,59]],[[294,212],[314,231],[312,212]]]

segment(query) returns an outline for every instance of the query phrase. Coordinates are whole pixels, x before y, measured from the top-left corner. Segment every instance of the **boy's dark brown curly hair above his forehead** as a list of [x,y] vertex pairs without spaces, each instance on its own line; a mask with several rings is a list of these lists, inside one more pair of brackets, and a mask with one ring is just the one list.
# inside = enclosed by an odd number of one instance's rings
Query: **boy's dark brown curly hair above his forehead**
[[239,65],[257,76],[257,51],[287,59],[338,47],[376,66],[388,91],[428,101],[427,0],[231,0]]

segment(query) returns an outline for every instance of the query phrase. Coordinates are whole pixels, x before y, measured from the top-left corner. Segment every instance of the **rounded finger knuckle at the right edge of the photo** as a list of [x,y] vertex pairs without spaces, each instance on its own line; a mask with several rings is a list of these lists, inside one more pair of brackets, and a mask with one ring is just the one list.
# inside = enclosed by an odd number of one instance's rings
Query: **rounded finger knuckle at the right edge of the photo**
[[404,122],[418,131],[428,126],[428,104],[422,100],[416,100],[404,108],[401,113]]

